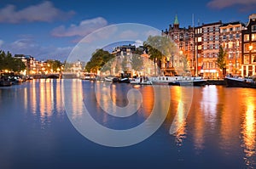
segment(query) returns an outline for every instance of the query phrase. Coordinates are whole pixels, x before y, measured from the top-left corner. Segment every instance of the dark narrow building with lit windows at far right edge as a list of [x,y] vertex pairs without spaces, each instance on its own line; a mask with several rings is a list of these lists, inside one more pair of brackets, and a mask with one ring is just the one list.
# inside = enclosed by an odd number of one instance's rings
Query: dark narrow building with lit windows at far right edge
[[256,75],[256,14],[249,16],[241,35],[241,76],[253,76]]

